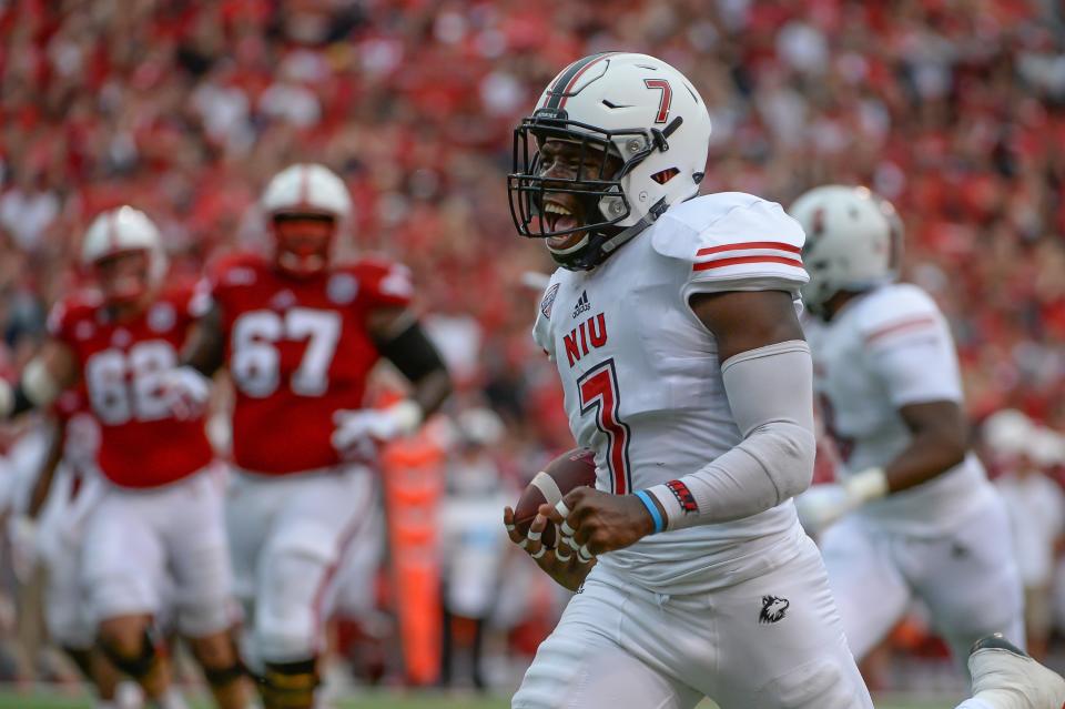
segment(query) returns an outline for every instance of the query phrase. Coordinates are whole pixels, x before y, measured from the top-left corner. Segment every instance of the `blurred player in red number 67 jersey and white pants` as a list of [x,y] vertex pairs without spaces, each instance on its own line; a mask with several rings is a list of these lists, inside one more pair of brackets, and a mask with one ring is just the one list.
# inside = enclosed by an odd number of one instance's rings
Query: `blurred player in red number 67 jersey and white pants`
[[[237,254],[213,270],[203,315],[168,387],[197,411],[223,365],[236,387],[227,506],[237,587],[253,595],[250,660],[267,709],[311,707],[335,568],[377,504],[365,465],[378,440],[414,433],[450,392],[444,364],[410,310],[406,267],[334,263],[351,215],[344,182],[293,165],[262,199],[272,257]],[[409,398],[364,409],[366,378],[389,359]]]

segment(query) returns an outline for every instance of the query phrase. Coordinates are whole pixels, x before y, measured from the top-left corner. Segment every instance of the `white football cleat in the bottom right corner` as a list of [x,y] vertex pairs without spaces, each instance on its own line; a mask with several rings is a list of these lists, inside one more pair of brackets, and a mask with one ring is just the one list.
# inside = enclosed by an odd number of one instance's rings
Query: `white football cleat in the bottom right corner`
[[1065,679],[1002,634],[981,638],[968,655],[973,697],[1002,709],[1063,709]]

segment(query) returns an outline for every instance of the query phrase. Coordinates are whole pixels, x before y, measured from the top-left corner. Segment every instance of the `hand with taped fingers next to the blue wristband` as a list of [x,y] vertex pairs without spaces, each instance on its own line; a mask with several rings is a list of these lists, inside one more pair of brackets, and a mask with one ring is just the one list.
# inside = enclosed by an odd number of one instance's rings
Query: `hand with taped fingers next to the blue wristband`
[[[655,520],[636,495],[611,495],[592,487],[570,490],[539,513],[558,525],[581,558],[623,549],[655,531]],[[561,546],[562,543],[559,543]]]

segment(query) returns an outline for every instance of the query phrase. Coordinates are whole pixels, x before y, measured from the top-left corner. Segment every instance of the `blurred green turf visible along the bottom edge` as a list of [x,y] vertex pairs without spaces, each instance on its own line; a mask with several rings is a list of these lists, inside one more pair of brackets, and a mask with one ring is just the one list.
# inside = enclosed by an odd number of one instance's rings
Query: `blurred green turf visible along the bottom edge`
[[[876,709],[952,709],[947,701],[910,701],[902,699],[876,701]],[[0,691],[0,709],[90,709],[87,699],[40,692],[19,693]],[[209,709],[210,703],[194,703],[195,709]],[[440,693],[373,693],[343,701],[339,709],[506,709],[505,698],[479,699],[471,696]],[[713,705],[699,709],[713,709]]]

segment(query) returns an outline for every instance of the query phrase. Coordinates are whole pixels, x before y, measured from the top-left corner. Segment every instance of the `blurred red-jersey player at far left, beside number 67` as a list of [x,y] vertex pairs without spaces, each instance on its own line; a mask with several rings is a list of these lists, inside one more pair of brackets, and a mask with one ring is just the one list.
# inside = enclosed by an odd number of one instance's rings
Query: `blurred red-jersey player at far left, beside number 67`
[[155,706],[184,707],[153,632],[163,588],[172,584],[178,627],[217,703],[243,709],[246,686],[227,634],[222,472],[203,417],[174,418],[161,387],[192,322],[192,290],[164,284],[159,231],[129,206],[95,219],[82,261],[99,292],[54,308],[51,336],[19,386],[0,387],[0,414],[48,407],[84,383],[101,424],[99,465],[109,483],[89,515],[82,557],[97,641]]

